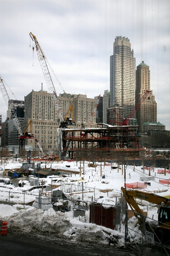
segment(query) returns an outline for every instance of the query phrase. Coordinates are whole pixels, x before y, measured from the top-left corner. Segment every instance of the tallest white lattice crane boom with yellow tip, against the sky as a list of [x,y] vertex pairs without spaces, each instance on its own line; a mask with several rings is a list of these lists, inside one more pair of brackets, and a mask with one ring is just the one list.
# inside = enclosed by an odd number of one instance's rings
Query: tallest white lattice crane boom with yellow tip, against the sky
[[[45,57],[45,54],[41,48],[41,46],[39,45],[35,35],[33,35],[30,32],[30,37],[32,38],[32,40],[35,42],[35,47],[36,47],[36,51],[37,51],[37,55],[38,55],[38,59],[39,59],[39,63],[42,69],[42,73],[44,75],[45,81],[47,83],[48,86],[48,90],[51,94],[51,98],[53,99],[54,102],[54,107],[56,108],[57,114],[58,114],[58,119],[60,120],[60,122],[63,122],[63,113],[62,113],[62,108],[60,106],[60,101],[57,97],[57,93],[48,69],[48,65],[47,65],[47,58]],[[49,63],[48,63],[49,64]]]

